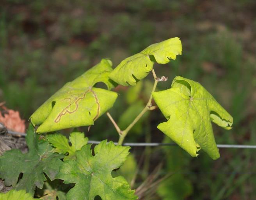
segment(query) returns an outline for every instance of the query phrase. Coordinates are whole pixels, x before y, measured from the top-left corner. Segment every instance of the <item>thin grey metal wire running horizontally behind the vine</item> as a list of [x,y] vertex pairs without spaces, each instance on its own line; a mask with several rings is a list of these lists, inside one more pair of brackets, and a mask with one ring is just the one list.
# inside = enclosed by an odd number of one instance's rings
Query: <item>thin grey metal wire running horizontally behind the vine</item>
[[[16,136],[26,136],[25,133],[8,130],[9,134]],[[89,144],[100,144],[101,141],[89,140]],[[117,144],[117,143],[114,143]],[[124,143],[123,146],[178,146],[175,143]],[[218,148],[239,148],[239,149],[256,149],[256,145],[242,145],[242,144],[217,144]]]

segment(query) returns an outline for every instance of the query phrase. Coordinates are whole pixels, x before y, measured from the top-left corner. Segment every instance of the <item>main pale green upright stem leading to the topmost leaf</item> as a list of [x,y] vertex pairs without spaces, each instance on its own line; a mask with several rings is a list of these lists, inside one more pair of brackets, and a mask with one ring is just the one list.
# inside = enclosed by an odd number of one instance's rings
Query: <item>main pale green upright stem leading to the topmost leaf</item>
[[144,115],[144,113],[146,113],[146,111],[148,111],[148,110],[154,110],[156,108],[155,106],[152,106],[151,102],[152,102],[152,98],[153,98],[152,93],[155,92],[156,85],[157,85],[158,81],[156,80],[157,77],[156,77],[156,73],[155,73],[154,69],[152,69],[152,73],[153,73],[155,82],[154,82],[148,103],[146,104],[145,108],[140,112],[140,114],[133,120],[133,122],[125,130],[121,131],[121,134],[119,134],[119,141],[118,141],[119,145],[123,144],[125,136],[132,129],[132,127],[135,125],[135,123],[137,123],[139,121],[139,119]]

